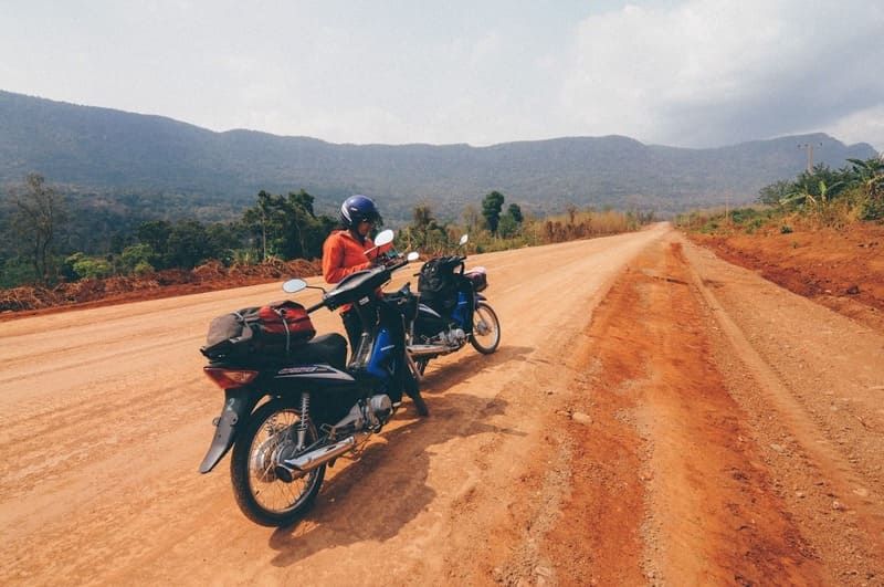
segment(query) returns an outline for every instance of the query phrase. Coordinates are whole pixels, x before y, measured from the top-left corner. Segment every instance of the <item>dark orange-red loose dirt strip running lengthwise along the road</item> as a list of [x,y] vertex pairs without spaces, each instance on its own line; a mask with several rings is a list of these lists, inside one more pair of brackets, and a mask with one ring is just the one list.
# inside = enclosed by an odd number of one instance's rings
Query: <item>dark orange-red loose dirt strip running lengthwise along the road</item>
[[547,554],[564,584],[824,583],[714,367],[688,279],[676,247],[652,245],[597,312]]

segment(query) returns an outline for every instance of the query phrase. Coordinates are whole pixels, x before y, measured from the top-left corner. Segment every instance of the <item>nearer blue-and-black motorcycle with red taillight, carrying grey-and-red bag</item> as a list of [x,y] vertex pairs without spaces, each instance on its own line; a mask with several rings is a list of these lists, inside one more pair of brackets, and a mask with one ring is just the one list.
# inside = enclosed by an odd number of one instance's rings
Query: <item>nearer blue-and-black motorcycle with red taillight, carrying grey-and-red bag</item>
[[[389,230],[376,239],[378,245],[391,241]],[[281,313],[285,325],[285,360],[239,356],[235,349],[251,334],[201,349],[209,357],[203,370],[223,389],[224,406],[213,422],[215,434],[199,470],[210,472],[232,448],[233,493],[253,522],[283,526],[299,517],[315,501],[326,467],[341,457],[357,458],[396,413],[403,394],[419,413],[427,415],[414,365],[406,353],[406,328],[417,312],[415,296],[408,285],[377,295],[394,271],[417,258],[417,253],[404,259],[387,253],[380,264],[348,275],[332,291],[317,287],[323,290],[322,301],[308,308],[294,302],[271,306],[283,308],[274,312]],[[290,294],[306,287],[316,286],[303,280],[283,285]],[[290,323],[306,323],[312,329],[311,313],[345,304],[352,304],[362,323],[348,365],[347,342],[337,333],[292,346]],[[298,313],[303,316],[296,321],[286,319]]]

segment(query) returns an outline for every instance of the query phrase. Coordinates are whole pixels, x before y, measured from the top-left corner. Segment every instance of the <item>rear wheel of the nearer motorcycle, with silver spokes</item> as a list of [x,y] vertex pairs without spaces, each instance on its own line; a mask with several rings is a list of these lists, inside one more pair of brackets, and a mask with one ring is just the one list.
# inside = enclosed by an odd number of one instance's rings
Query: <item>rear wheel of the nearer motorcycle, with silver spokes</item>
[[[251,415],[236,439],[230,460],[233,495],[245,517],[262,526],[293,523],[319,493],[325,464],[285,482],[274,472],[281,450],[297,441],[301,415],[291,401],[271,400]],[[317,439],[316,428],[308,422],[305,442]]]

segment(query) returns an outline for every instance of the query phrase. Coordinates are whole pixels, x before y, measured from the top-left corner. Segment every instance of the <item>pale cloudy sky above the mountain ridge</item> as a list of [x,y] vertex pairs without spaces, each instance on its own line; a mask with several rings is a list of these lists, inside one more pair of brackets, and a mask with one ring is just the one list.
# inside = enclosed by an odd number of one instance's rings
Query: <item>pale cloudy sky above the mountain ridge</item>
[[0,0],[0,90],[212,130],[884,151],[882,0]]

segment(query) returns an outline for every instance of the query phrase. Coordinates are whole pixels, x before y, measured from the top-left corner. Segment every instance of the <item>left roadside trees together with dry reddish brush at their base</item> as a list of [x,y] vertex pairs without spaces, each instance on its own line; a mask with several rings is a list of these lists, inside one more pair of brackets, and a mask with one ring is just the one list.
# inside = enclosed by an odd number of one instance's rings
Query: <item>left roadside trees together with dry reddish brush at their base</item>
[[[0,312],[162,285],[242,285],[316,274],[323,242],[337,227],[337,219],[315,212],[314,197],[303,189],[285,196],[262,190],[254,206],[229,222],[147,220],[115,231],[103,227],[103,252],[96,254],[76,250],[66,199],[43,177],[28,176],[9,200],[13,207],[0,223]],[[415,206],[411,222],[398,229],[397,245],[442,254],[469,233],[470,252],[491,252],[614,234],[652,220],[653,213],[576,207],[536,218],[492,191],[467,205],[457,221],[440,220],[430,205]]]

